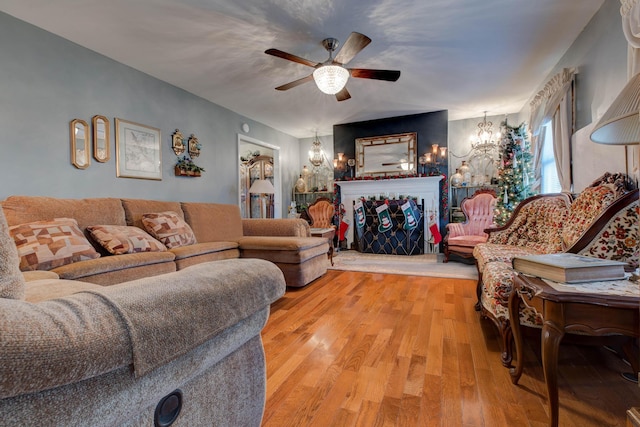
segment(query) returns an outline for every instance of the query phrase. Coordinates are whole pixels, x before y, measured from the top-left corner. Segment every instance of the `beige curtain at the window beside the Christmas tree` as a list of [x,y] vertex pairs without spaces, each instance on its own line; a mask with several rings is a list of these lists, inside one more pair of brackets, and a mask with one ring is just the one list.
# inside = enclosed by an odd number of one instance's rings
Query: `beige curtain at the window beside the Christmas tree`
[[553,153],[562,191],[571,191],[571,134],[573,133],[573,80],[575,69],[564,68],[553,76],[536,94],[531,107],[531,149],[535,181],[533,189],[540,191],[542,176],[542,127],[550,120],[553,126]]

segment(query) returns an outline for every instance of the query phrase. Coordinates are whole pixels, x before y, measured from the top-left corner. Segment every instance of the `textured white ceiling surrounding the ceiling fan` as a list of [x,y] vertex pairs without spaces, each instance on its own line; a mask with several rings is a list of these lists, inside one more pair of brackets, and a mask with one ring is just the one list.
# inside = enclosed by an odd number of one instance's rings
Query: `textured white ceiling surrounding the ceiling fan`
[[[0,10],[298,138],[360,120],[449,110],[518,112],[603,0],[0,0]],[[326,37],[372,42],[337,102],[313,71],[264,54],[328,58]]]

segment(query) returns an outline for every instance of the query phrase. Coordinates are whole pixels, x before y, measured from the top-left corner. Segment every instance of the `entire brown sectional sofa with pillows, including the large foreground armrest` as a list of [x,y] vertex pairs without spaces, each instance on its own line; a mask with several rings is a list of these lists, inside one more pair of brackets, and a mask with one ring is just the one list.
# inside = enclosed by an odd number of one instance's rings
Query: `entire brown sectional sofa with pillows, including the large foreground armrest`
[[305,221],[137,199],[1,206],[1,425],[260,425],[270,305],[328,262]]

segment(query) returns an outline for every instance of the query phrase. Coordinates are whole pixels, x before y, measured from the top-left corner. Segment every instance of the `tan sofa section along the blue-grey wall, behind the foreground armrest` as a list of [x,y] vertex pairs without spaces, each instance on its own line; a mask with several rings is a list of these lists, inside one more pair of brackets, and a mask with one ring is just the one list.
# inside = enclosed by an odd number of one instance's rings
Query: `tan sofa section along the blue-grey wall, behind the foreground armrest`
[[[310,237],[306,221],[242,219],[236,205],[10,196],[0,206],[10,227],[22,226],[22,249],[33,251],[32,260],[21,269],[46,269],[62,279],[112,285],[206,261],[260,258],[283,271],[287,286],[300,287],[322,276],[329,265],[327,240]],[[51,255],[34,234],[59,225],[55,219],[75,221],[76,232],[79,229],[90,246],[80,242],[71,259],[39,262],[39,255]],[[150,239],[154,236],[159,237],[156,242]],[[118,246],[123,242],[127,248]]]

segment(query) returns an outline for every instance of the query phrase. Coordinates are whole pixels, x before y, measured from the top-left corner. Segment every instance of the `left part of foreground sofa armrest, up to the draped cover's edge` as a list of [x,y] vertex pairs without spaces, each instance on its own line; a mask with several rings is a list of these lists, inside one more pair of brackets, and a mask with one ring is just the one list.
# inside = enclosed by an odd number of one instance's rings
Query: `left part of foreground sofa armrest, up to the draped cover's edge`
[[0,299],[0,399],[71,384],[131,364],[125,323],[97,295],[33,304]]

